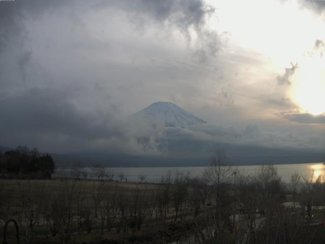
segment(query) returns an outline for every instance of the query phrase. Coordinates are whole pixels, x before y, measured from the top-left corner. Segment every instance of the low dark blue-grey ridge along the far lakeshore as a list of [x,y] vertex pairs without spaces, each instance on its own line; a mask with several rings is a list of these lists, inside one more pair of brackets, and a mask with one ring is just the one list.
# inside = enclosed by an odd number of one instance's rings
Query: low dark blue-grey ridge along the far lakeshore
[[[212,148],[226,148],[228,160],[231,165],[261,165],[273,164],[301,164],[320,163],[323,159],[322,153],[310,153],[303,150],[286,150],[275,148],[262,148],[257,146],[236,146],[226,144],[214,144]],[[0,147],[5,153],[14,148]],[[258,151],[259,155],[254,154]],[[41,153],[45,154],[45,153]],[[100,164],[105,167],[186,167],[186,166],[208,166],[210,165],[210,154],[198,157],[175,157],[175,156],[145,156],[127,154],[103,154],[103,153],[81,153],[81,154],[55,154],[51,155],[58,168],[92,167]]]

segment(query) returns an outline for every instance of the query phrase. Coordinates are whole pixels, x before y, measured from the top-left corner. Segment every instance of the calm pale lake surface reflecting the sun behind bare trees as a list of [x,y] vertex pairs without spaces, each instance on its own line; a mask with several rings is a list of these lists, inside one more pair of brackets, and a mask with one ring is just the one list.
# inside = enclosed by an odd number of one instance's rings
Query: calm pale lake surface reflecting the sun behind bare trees
[[[322,163],[310,163],[310,164],[279,164],[275,165],[278,169],[278,174],[282,180],[286,183],[290,182],[290,176],[293,173],[298,173],[301,176],[307,178],[318,177],[319,175],[325,175],[325,165]],[[247,165],[247,166],[236,166],[236,168],[244,172],[245,174],[254,173],[260,166],[259,165]],[[114,174],[114,180],[119,180],[120,175],[123,175],[123,181],[140,181],[140,177],[145,177],[144,181],[147,182],[159,182],[161,176],[164,176],[171,171],[172,179],[174,178],[177,171],[189,172],[190,177],[200,177],[205,167],[120,167],[120,168],[106,168],[106,173]],[[235,167],[234,167],[235,168]],[[88,177],[94,177],[92,168],[82,169],[88,172]]]

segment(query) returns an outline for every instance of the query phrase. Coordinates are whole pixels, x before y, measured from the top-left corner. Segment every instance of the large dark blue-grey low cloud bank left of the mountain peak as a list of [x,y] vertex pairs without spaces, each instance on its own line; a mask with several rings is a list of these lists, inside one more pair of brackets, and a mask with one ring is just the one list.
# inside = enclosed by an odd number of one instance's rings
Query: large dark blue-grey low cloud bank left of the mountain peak
[[77,140],[80,147],[93,140],[125,139],[125,127],[118,114],[81,110],[73,103],[74,93],[72,88],[32,88],[2,97],[0,144],[8,144],[8,138],[16,138],[18,143],[25,134],[28,143],[34,145],[42,137],[51,138],[56,146],[68,146],[71,140]]

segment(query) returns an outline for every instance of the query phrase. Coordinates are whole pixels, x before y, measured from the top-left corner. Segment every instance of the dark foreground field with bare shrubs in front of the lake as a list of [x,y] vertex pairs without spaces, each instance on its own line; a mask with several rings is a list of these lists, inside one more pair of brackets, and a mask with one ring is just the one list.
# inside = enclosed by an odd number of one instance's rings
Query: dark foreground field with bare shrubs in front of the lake
[[[238,176],[236,185],[186,174],[160,184],[2,179],[0,228],[15,219],[22,243],[323,243],[325,181],[295,192],[274,170]],[[302,207],[283,205],[287,197]]]

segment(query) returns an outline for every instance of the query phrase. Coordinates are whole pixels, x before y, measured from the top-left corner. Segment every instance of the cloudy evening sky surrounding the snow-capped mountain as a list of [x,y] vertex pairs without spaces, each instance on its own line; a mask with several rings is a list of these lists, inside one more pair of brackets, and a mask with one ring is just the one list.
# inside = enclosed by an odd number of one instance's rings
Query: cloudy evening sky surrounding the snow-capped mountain
[[324,151],[324,27],[324,1],[0,2],[0,146],[157,153],[127,118],[167,101],[209,124],[180,138]]

